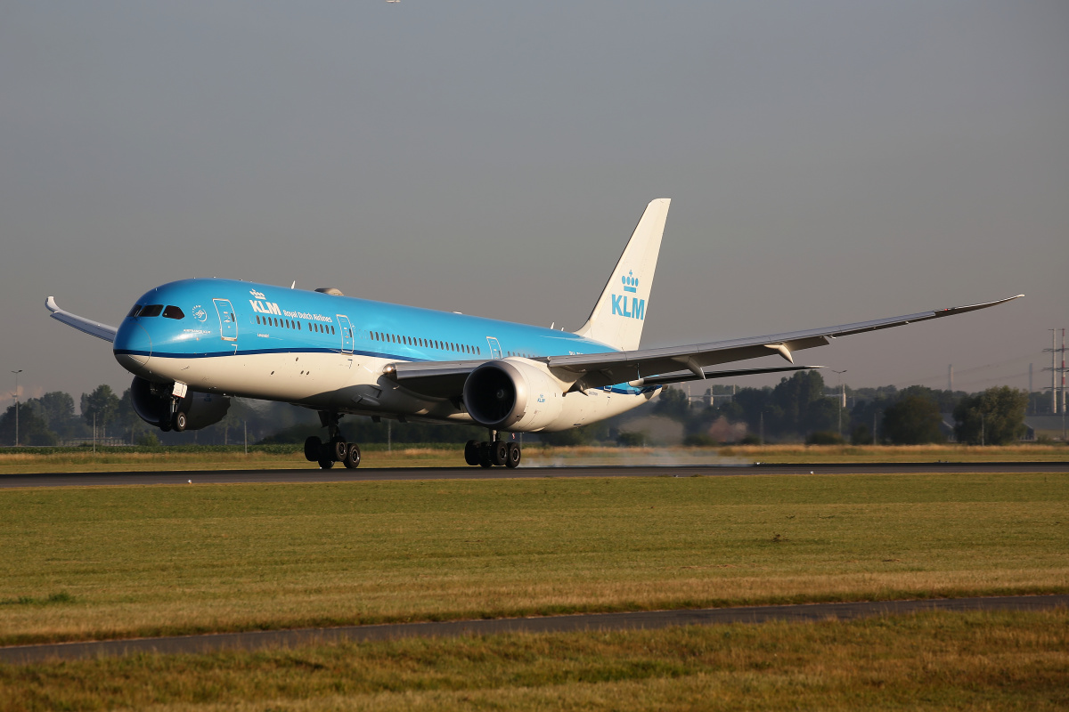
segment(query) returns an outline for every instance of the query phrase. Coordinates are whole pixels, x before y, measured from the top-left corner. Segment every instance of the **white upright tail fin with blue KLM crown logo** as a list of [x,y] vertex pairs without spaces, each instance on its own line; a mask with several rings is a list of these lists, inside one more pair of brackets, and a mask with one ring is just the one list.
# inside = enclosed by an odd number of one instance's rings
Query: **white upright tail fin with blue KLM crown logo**
[[576,334],[622,351],[638,348],[670,203],[670,199],[659,197],[646,206],[590,318]]

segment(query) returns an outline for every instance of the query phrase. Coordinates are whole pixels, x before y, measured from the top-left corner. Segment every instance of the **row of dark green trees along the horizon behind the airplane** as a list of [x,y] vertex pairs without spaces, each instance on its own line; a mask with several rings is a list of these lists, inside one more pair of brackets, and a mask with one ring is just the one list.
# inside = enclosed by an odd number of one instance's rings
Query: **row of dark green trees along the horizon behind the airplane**
[[[852,406],[842,408],[838,395],[826,394],[823,377],[815,370],[799,371],[775,386],[708,387],[704,397],[691,398],[679,387],[665,389],[650,404],[628,414],[583,428],[537,438],[557,445],[590,442],[639,444],[642,433],[631,423],[660,415],[682,425],[684,442],[799,442],[854,444],[923,444],[945,442],[948,436],[970,444],[1005,444],[1024,436],[1024,414],[1029,396],[1009,386],[979,393],[938,391],[923,385],[850,389]],[[730,394],[730,396],[729,396]],[[79,414],[74,398],[61,391],[29,398],[18,406],[19,442],[56,445],[93,437],[120,438],[130,444],[238,444],[297,443],[310,434],[322,434],[313,411],[266,401],[233,399],[226,417],[202,430],[160,432],[144,423],[130,404],[129,390],[115,394],[99,385],[81,394]],[[950,427],[945,414],[951,414]],[[724,428],[730,426],[743,426]],[[476,426],[425,423],[374,422],[347,416],[342,427],[354,442],[418,443],[462,442],[485,437]],[[725,437],[724,432],[745,434]],[[15,440],[15,406],[0,416],[0,443]]]

